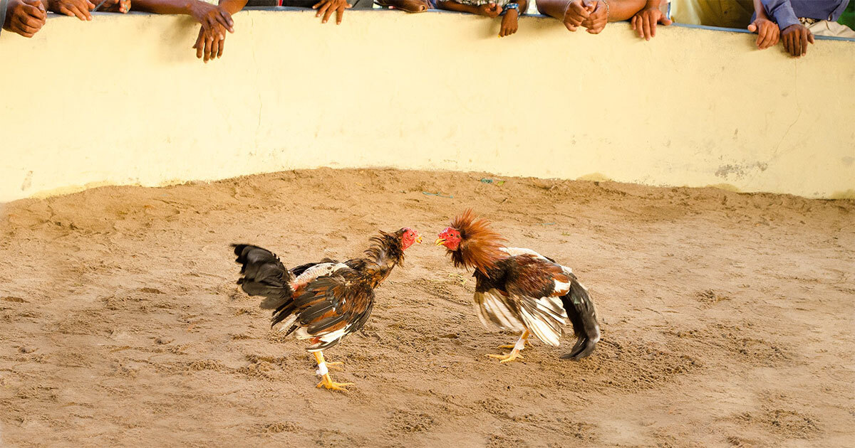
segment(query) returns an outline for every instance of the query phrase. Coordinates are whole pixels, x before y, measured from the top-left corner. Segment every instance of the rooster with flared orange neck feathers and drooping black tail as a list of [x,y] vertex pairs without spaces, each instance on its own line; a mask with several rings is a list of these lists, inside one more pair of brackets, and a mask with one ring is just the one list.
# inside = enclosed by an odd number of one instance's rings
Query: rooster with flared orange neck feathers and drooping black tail
[[511,348],[510,353],[487,356],[501,363],[522,358],[529,335],[558,346],[567,317],[577,339],[561,358],[590,355],[599,341],[599,325],[587,288],[568,267],[531,249],[504,247],[500,241],[504,238],[472,210],[452,219],[436,240],[455,266],[475,269],[475,311],[481,323],[522,333],[515,345],[499,347]]

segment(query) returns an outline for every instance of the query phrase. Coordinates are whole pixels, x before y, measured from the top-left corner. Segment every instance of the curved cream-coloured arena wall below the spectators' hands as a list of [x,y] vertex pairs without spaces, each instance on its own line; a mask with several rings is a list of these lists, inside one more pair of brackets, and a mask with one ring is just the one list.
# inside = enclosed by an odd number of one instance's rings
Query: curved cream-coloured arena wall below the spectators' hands
[[[855,43],[793,60],[747,34],[634,38],[556,20],[235,15],[223,59],[182,17],[0,35],[0,201],[316,166],[855,194]],[[848,192],[848,193],[847,193]]]

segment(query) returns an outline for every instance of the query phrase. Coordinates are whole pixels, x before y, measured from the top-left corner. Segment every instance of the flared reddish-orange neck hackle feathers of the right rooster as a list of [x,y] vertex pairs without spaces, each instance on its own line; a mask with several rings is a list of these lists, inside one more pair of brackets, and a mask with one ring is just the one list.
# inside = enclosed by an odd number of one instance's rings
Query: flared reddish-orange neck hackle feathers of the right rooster
[[475,217],[472,209],[452,219],[451,227],[460,232],[461,238],[457,250],[451,251],[455,266],[475,268],[486,275],[498,260],[507,258],[501,250],[504,238],[490,229],[489,221]]

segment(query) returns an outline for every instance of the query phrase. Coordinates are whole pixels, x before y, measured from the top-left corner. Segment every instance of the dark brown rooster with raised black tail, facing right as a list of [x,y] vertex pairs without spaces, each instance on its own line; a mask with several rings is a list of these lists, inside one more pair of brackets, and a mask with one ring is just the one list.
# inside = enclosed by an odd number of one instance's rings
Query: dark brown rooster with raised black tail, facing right
[[321,376],[317,387],[343,391],[353,383],[330,378],[327,365],[342,363],[327,364],[323,350],[363,328],[374,306],[374,288],[403,264],[404,250],[414,242],[422,242],[422,237],[410,228],[381,231],[360,258],[344,263],[322,259],[290,271],[267,249],[249,244],[233,247],[235,261],[242,265],[238,284],[246,294],[264,297],[262,309],[273,310],[271,328],[279,325],[286,335],[310,340],[306,350],[315,355],[315,373]]

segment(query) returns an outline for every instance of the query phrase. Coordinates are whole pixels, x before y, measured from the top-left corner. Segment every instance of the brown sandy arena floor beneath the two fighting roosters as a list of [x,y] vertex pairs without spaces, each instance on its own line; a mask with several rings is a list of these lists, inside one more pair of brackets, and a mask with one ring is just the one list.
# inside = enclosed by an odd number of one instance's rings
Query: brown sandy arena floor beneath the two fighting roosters
[[[280,172],[4,206],[0,436],[10,446],[852,446],[855,203],[481,173]],[[423,192],[440,193],[425,195]],[[445,196],[451,196],[445,197]],[[572,266],[603,341],[487,353],[474,282],[429,241],[466,207]],[[327,351],[235,286],[229,243],[286,265],[427,238]]]

